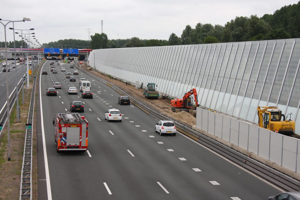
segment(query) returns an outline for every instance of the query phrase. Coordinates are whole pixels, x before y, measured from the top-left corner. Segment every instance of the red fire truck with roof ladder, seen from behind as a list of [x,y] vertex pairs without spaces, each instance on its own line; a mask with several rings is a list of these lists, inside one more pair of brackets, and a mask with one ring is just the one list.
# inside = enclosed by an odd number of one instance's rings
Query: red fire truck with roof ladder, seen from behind
[[53,119],[54,142],[59,151],[88,149],[88,121],[79,113],[58,113]]

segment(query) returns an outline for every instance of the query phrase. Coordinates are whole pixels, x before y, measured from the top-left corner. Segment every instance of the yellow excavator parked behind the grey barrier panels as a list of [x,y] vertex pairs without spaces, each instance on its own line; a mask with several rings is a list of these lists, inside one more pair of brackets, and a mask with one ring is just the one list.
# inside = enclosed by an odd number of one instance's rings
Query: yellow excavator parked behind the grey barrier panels
[[[295,133],[295,121],[291,120],[291,114],[286,117],[276,106],[258,106],[258,125],[261,128],[281,134]],[[289,116],[289,120],[287,117]],[[281,120],[283,118],[283,120]]]

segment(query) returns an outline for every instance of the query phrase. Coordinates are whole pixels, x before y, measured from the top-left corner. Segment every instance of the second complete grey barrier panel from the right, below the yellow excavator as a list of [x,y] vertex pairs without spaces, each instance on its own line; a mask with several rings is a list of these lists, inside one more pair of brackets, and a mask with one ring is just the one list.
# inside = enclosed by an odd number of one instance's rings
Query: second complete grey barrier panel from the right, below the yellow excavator
[[281,165],[283,135],[271,132],[270,160]]

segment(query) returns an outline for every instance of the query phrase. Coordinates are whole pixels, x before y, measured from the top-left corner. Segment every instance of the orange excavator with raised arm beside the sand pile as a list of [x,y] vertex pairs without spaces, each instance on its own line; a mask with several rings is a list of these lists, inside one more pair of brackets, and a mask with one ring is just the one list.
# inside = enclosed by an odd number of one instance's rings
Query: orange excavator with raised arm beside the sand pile
[[[192,95],[194,95],[196,106],[194,106],[193,104],[193,97],[190,97]],[[187,93],[185,93],[182,99],[172,99],[171,106],[173,112],[176,112],[177,109],[180,109],[180,111],[189,112],[190,109],[195,109],[196,107],[199,107],[196,88],[193,88]]]

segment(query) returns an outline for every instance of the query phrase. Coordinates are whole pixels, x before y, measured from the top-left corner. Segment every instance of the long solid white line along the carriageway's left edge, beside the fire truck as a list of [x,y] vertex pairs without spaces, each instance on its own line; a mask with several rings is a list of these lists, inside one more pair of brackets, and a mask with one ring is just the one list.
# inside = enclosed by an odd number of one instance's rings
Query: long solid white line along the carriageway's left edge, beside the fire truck
[[[44,62],[45,64],[46,62]],[[42,137],[43,137],[43,150],[44,150],[44,162],[45,162],[45,173],[46,173],[46,184],[47,184],[47,194],[48,194],[48,200],[52,200],[52,194],[51,194],[51,185],[50,185],[50,176],[49,176],[49,168],[48,168],[48,158],[47,158],[47,151],[46,151],[46,140],[45,140],[45,130],[44,130],[44,118],[43,118],[43,108],[42,108],[42,92],[41,92],[41,77],[42,77],[42,70],[44,67],[44,64],[41,69],[40,74],[40,105],[41,105],[41,126],[42,126]]]

